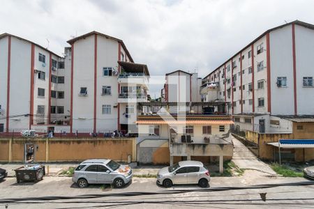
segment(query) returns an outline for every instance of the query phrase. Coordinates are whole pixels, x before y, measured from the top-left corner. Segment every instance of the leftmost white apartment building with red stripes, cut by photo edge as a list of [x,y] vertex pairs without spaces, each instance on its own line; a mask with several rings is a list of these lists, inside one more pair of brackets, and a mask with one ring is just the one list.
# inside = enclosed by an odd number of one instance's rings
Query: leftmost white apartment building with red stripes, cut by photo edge
[[8,33],[0,35],[0,52],[0,132],[66,128],[69,103],[63,58]]

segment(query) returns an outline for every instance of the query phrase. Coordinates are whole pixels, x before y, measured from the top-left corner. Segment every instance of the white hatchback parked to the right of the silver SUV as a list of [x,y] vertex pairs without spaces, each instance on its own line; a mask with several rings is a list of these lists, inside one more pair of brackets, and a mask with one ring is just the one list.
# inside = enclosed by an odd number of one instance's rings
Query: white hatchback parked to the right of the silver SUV
[[177,184],[198,184],[200,187],[207,187],[210,180],[207,167],[198,161],[181,161],[160,169],[157,176],[157,183],[164,187]]

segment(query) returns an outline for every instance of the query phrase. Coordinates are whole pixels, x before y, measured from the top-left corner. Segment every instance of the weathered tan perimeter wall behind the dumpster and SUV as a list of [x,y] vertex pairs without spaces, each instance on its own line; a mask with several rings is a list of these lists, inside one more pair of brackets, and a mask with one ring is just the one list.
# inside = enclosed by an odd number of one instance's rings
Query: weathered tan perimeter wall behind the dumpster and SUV
[[25,144],[34,145],[35,162],[82,161],[91,158],[109,158],[126,162],[128,155],[131,155],[133,162],[136,161],[135,138],[0,139],[0,161],[24,162]]

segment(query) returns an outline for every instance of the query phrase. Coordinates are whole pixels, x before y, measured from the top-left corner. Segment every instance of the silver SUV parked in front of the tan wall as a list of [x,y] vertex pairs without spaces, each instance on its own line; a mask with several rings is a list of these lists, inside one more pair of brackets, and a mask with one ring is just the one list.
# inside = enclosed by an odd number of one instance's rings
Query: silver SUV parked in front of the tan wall
[[82,162],[74,171],[72,181],[81,188],[89,184],[110,183],[121,188],[132,180],[132,169],[113,160],[92,159]]

